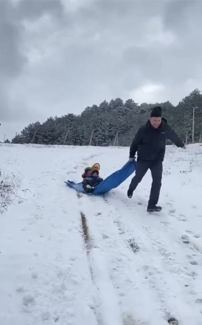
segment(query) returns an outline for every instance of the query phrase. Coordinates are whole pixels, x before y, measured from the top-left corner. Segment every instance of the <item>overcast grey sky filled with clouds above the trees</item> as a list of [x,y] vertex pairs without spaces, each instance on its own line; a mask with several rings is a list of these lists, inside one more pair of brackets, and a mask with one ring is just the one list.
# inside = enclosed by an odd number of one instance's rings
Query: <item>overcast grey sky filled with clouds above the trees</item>
[[104,99],[202,90],[202,1],[0,1],[0,141]]

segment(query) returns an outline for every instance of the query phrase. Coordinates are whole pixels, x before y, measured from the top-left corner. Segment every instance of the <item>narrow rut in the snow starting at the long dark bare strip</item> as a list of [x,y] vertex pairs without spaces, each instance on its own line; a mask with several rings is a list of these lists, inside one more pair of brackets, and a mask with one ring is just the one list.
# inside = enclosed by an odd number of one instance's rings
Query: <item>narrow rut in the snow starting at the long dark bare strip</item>
[[[95,316],[99,325],[146,325],[137,322],[130,313],[119,313],[120,300],[115,292],[115,287],[108,272],[106,254],[104,247],[99,247],[96,236],[93,235],[91,226],[88,228],[85,214],[81,212],[83,237],[86,243],[87,257],[92,277],[95,285]],[[90,222],[89,222],[90,224]],[[109,300],[110,297],[110,300]],[[110,303],[109,303],[110,301]]]

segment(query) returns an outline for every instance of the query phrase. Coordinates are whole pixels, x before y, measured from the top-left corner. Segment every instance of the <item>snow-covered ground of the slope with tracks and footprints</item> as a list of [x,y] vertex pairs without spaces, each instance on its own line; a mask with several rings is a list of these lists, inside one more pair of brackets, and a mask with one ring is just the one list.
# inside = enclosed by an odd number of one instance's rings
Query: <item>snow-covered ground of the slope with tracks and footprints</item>
[[128,148],[0,151],[3,174],[19,182],[0,214],[1,325],[202,324],[201,145],[167,147],[156,214],[146,212],[149,172],[132,199],[132,177],[104,197],[64,183],[95,162],[106,177]]

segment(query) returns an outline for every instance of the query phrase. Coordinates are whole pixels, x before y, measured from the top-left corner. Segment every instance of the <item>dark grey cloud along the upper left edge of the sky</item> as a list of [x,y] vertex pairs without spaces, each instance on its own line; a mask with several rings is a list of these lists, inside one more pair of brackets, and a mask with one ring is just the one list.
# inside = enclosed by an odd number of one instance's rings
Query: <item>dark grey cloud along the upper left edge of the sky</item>
[[[7,88],[23,72],[28,58],[23,53],[23,19],[39,19],[43,14],[61,18],[62,4],[52,1],[0,1],[0,119],[23,119],[32,115],[20,98],[12,98]],[[6,96],[7,95],[7,96]],[[15,96],[14,96],[15,97]]]

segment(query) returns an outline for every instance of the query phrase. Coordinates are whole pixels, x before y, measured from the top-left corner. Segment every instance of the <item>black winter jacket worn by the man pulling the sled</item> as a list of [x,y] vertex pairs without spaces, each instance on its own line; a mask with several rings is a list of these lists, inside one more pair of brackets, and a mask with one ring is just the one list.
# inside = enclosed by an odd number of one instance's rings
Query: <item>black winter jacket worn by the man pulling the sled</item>
[[166,149],[166,139],[177,147],[183,147],[175,131],[172,130],[166,119],[162,118],[157,129],[151,126],[150,121],[139,128],[130,147],[129,157],[133,158],[137,151],[137,161],[163,161]]

